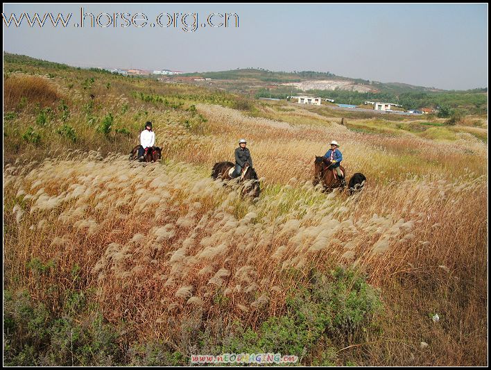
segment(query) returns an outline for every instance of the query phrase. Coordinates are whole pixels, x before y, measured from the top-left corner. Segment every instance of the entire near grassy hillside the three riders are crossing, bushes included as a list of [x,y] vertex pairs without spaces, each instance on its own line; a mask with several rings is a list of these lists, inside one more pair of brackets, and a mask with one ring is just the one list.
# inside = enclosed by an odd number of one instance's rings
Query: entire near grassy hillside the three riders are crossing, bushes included
[[[486,364],[487,117],[381,119],[5,60],[5,364]],[[148,120],[163,160],[129,162]],[[240,137],[255,201],[209,176]],[[362,194],[313,187],[330,140]]]

